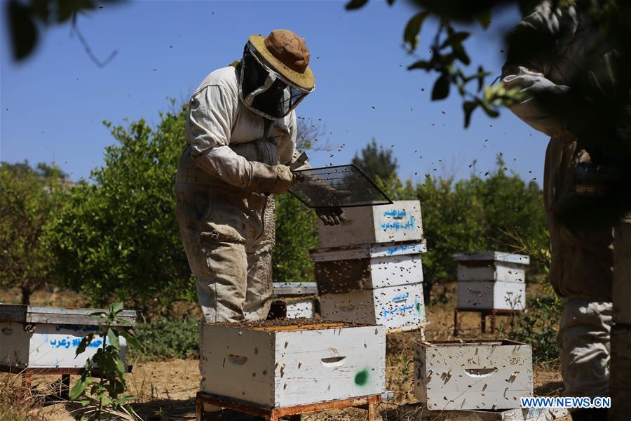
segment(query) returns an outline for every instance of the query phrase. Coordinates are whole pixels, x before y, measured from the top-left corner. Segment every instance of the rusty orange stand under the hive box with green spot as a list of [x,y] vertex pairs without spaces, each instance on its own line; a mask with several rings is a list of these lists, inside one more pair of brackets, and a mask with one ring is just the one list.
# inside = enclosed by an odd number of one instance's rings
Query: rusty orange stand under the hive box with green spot
[[339,399],[336,401],[325,401],[318,403],[308,403],[297,406],[285,406],[280,408],[269,408],[259,406],[256,403],[239,401],[237,399],[217,396],[206,392],[197,392],[196,415],[197,421],[203,420],[204,403],[209,403],[222,408],[236,410],[241,413],[263,417],[267,421],[278,421],[283,418],[291,421],[300,420],[301,414],[315,413],[322,410],[341,408],[364,408],[367,409],[367,420],[374,421],[375,406],[381,402],[381,395],[360,396],[351,399]]

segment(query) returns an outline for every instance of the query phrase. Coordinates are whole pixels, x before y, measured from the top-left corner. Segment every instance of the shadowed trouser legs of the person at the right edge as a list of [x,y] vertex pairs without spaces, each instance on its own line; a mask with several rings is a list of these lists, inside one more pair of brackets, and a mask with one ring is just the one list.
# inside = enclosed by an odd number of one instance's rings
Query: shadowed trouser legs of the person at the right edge
[[[576,159],[582,156],[576,149],[576,141],[550,140],[543,182],[552,246],[550,283],[566,300],[557,337],[564,394],[609,396],[612,227],[590,218],[581,220],[555,212],[559,195],[568,191],[568,183],[574,180]],[[577,208],[576,214],[579,212]],[[580,419],[576,411],[573,415]]]

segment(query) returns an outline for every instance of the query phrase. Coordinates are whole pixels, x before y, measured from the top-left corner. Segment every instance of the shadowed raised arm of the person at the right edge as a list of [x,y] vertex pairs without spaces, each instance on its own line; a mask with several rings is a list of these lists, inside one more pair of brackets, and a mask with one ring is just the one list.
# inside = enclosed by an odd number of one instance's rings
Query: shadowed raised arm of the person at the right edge
[[[518,87],[527,95],[510,107],[529,126],[552,137],[574,131],[573,122],[584,113],[572,98],[571,88],[547,79],[555,40],[576,22],[574,8],[552,8],[548,2],[538,6],[524,18],[511,34],[518,40],[502,68],[502,81],[507,88]],[[576,133],[574,133],[576,134]]]

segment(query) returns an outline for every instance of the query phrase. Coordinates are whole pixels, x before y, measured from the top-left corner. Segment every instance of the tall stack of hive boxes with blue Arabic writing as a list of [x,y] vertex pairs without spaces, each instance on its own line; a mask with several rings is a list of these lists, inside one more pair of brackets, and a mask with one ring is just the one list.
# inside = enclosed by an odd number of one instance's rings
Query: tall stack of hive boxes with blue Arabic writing
[[346,221],[318,227],[311,252],[325,319],[412,330],[426,323],[419,201],[346,208]]

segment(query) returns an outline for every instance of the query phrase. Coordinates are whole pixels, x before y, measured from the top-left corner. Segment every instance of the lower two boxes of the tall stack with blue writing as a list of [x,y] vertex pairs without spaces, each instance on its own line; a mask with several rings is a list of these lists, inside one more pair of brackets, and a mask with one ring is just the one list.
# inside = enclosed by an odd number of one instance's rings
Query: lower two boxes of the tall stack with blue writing
[[426,250],[421,242],[313,250],[323,317],[388,330],[424,326],[421,253]]

